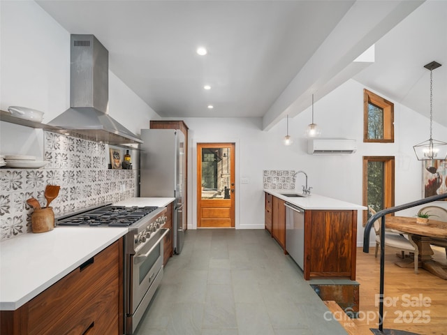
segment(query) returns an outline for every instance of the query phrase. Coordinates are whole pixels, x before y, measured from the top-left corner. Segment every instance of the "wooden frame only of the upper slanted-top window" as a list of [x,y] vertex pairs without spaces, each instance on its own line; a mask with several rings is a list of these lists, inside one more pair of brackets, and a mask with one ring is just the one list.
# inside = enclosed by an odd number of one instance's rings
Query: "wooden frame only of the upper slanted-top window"
[[[368,138],[369,104],[383,109],[383,138]],[[363,142],[394,142],[394,103],[363,89]]]

